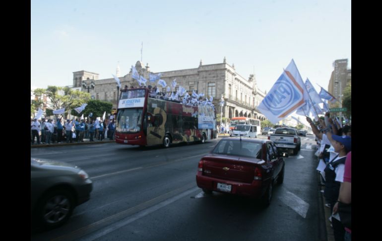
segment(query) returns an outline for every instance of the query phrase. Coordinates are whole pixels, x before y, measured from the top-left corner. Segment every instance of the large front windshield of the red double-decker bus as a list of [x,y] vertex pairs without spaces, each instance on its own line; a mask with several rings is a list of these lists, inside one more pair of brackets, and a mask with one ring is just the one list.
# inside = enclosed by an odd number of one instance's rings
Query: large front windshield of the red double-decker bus
[[142,129],[142,112],[142,108],[120,109],[117,115],[117,132],[139,132]]

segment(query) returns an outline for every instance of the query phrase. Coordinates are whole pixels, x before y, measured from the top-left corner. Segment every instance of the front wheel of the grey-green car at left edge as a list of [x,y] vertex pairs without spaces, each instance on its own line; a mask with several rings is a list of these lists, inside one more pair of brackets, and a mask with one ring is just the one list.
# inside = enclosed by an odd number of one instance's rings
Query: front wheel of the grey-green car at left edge
[[74,198],[65,189],[47,193],[37,207],[37,218],[46,228],[56,228],[63,225],[74,210]]

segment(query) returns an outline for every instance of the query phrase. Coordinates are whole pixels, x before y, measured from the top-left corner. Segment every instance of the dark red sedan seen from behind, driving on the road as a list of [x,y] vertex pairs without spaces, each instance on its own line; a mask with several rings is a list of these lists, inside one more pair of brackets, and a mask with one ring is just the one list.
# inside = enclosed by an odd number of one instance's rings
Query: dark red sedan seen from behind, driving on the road
[[267,206],[273,185],[284,180],[283,157],[269,140],[224,138],[199,161],[196,183],[205,193],[261,198]]

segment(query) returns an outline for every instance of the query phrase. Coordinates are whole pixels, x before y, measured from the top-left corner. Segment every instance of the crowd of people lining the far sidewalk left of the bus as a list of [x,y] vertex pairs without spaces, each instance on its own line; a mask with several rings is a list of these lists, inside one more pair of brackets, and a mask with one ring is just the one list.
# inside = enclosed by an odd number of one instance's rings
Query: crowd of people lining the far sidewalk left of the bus
[[111,120],[91,120],[88,119],[57,119],[41,120],[31,119],[31,144],[51,143],[73,143],[84,142],[84,138],[94,142],[94,138],[102,141],[105,137],[114,140],[116,125],[114,119]]

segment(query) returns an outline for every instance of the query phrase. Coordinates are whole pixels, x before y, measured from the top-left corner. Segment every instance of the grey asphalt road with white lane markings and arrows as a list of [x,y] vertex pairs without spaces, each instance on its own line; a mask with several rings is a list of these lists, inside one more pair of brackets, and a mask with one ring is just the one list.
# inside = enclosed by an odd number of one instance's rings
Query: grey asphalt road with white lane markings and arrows
[[313,136],[302,137],[298,155],[286,158],[284,183],[268,208],[244,197],[204,195],[196,186],[198,161],[219,140],[169,149],[115,143],[31,149],[31,157],[73,163],[93,180],[90,200],[64,226],[33,231],[31,240],[326,239]]

